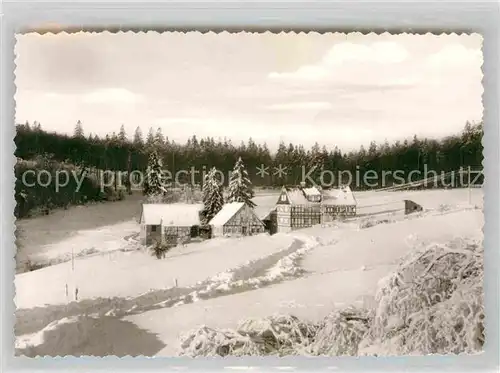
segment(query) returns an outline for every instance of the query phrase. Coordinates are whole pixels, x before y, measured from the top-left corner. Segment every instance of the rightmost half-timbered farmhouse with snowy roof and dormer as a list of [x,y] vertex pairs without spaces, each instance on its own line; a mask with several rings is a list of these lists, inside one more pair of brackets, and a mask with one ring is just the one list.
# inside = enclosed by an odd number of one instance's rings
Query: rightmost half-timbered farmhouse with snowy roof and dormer
[[332,221],[338,216],[354,215],[356,199],[349,187],[330,190],[283,187],[276,203],[276,213],[267,217],[266,224],[269,227],[275,225],[277,232],[290,232]]

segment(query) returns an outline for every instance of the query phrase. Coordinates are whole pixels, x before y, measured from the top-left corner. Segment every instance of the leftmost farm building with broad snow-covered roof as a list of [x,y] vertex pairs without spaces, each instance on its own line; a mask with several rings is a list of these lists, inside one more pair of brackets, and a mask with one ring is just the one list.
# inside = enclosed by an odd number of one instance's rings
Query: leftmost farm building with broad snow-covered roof
[[141,212],[141,243],[161,242],[177,246],[196,235],[203,205],[185,203],[145,203]]

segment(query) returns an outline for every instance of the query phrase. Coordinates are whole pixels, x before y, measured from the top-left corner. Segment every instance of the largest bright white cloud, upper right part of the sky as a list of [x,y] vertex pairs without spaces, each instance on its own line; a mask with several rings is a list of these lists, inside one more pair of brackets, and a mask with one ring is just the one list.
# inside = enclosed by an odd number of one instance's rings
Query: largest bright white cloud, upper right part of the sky
[[335,44],[323,58],[314,65],[304,65],[293,72],[271,72],[269,79],[318,81],[328,77],[342,76],[339,69],[349,64],[370,65],[398,64],[408,58],[408,51],[394,42]]

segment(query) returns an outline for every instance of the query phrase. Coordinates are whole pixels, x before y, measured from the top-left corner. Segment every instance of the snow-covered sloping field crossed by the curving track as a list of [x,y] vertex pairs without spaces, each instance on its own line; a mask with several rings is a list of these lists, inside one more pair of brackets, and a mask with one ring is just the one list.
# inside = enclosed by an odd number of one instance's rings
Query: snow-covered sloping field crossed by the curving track
[[[290,234],[193,243],[162,260],[136,250],[135,222],[80,231],[43,251],[46,258],[57,258],[72,248],[80,253],[93,248],[75,259],[74,270],[69,261],[16,276],[15,300],[22,309],[18,352],[116,353],[107,347],[113,341],[98,348],[101,338],[86,329],[96,323],[113,330],[120,323],[124,330],[138,328],[130,335],[156,334],[152,341],[143,336],[149,349],[129,343],[120,350],[124,355],[175,355],[179,337],[204,324],[234,328],[245,318],[274,313],[320,320],[335,307],[370,302],[378,281],[409,251],[481,238],[482,190],[472,190],[470,204],[468,193],[356,193],[358,211],[378,214]],[[257,196],[258,209],[270,209],[276,198]],[[399,211],[404,199],[420,203],[424,211],[405,216]],[[397,209],[387,208],[391,204]],[[78,303],[72,302],[76,287]],[[115,334],[118,345],[125,334]],[[82,352],[82,345],[97,347]]]

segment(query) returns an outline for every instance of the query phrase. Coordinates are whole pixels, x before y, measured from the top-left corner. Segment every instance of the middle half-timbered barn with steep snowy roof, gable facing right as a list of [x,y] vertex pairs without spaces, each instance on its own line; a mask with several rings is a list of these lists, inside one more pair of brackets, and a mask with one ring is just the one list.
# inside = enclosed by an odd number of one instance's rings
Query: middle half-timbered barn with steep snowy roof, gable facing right
[[212,236],[227,235],[251,236],[264,233],[264,223],[252,208],[243,202],[225,204],[210,221]]

